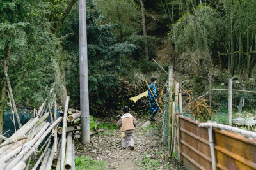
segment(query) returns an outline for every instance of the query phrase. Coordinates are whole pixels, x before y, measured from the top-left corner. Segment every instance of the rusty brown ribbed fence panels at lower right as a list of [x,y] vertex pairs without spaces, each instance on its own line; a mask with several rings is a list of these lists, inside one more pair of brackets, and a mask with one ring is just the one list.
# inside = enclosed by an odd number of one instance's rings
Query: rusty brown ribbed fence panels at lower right
[[[212,169],[207,128],[182,115],[178,122],[180,160],[189,169]],[[214,128],[212,133],[217,169],[256,169],[256,139]]]

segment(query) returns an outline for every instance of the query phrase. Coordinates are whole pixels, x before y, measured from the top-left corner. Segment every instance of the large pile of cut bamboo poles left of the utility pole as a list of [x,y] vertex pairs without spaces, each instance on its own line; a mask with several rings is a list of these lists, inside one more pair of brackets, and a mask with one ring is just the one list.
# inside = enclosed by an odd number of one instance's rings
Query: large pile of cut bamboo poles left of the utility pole
[[[51,89],[50,95],[52,91],[53,89]],[[53,96],[53,99],[50,99],[51,96]],[[31,160],[34,162],[33,169],[51,169],[51,167],[56,167],[56,169],[75,168],[74,139],[72,137],[79,138],[80,127],[79,124],[76,124],[74,132],[68,131],[67,121],[71,120],[70,123],[73,120],[73,122],[78,122],[80,114],[74,113],[70,115],[71,117],[67,117],[69,102],[69,97],[67,96],[64,115],[57,118],[55,94],[51,96],[44,101],[36,113],[36,117],[20,127],[10,138],[0,135],[0,138],[5,139],[4,143],[0,145],[0,170],[28,169],[29,166],[31,169]],[[51,113],[53,105],[54,117]],[[47,122],[48,117],[51,118],[51,123]],[[57,133],[57,127],[61,121],[63,121],[62,129],[64,130],[60,135]],[[67,135],[66,132],[68,132]],[[39,146],[41,146],[40,150],[38,149]]]

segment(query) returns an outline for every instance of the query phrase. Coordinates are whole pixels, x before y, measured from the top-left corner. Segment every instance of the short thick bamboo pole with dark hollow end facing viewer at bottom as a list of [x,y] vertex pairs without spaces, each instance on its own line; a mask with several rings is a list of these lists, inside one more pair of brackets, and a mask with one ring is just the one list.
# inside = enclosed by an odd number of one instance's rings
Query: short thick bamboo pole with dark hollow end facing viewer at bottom
[[72,132],[67,135],[67,151],[65,155],[65,169],[72,168]]

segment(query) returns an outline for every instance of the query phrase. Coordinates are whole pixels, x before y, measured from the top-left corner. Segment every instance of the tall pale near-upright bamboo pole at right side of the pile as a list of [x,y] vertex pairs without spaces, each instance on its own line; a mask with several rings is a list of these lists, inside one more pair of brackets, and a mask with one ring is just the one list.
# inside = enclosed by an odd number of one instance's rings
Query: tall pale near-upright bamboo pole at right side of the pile
[[68,110],[69,96],[66,98],[64,117],[63,117],[63,129],[62,129],[62,142],[61,142],[61,169],[64,169],[65,163],[65,149],[66,149],[66,127],[67,127],[67,110]]

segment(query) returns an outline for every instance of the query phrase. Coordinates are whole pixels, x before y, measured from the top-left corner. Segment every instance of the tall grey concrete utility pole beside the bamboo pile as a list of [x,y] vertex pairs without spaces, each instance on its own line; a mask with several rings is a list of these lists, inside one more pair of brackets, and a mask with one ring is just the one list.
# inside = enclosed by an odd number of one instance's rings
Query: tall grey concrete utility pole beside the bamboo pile
[[81,137],[83,143],[90,143],[86,0],[79,0],[79,66]]

